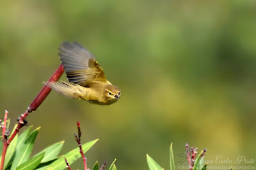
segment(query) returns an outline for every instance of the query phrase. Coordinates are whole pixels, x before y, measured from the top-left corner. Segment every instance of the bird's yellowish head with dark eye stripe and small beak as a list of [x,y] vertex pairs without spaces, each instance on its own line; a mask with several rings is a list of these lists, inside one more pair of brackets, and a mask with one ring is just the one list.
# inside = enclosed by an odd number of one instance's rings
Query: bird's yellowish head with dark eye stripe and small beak
[[104,89],[104,95],[107,104],[113,104],[120,98],[121,91],[118,87],[109,84]]

